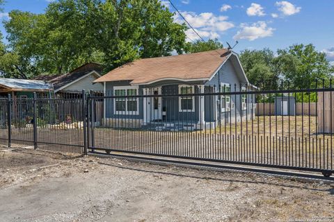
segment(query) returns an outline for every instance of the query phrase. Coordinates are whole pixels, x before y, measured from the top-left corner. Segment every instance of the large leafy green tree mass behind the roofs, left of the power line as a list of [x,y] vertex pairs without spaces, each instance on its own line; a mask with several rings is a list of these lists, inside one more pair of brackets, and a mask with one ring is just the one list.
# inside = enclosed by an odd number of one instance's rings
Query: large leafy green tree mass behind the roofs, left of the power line
[[47,73],[89,61],[111,69],[186,49],[186,26],[174,23],[158,0],[59,0],[45,14],[14,10],[10,17],[10,48]]

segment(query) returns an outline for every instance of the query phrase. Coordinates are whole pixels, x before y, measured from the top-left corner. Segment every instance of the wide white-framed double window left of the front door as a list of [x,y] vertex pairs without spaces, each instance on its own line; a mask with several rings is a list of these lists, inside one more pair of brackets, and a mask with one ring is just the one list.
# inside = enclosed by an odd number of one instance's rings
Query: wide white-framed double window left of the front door
[[138,95],[136,87],[114,87],[114,95],[124,96],[115,98],[116,114],[138,114],[138,98],[126,97]]

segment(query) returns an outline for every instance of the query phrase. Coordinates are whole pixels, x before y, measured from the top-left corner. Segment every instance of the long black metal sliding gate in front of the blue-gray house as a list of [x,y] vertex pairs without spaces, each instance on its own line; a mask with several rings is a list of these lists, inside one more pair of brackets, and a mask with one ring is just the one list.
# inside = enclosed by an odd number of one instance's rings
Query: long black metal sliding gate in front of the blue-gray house
[[[127,153],[333,173],[333,89],[190,86],[175,90],[120,89],[88,98],[106,110],[100,126],[88,121],[91,152]],[[274,102],[260,115],[257,102]],[[317,115],[296,114],[316,102]]]

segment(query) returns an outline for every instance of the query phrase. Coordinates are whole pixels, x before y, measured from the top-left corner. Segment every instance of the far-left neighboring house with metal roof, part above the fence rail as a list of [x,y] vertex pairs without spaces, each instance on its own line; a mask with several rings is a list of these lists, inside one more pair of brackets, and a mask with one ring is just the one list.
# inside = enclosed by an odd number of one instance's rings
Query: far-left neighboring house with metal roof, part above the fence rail
[[1,97],[10,94],[13,99],[33,98],[33,92],[36,92],[38,97],[47,97],[53,92],[53,87],[52,84],[42,80],[0,78]]

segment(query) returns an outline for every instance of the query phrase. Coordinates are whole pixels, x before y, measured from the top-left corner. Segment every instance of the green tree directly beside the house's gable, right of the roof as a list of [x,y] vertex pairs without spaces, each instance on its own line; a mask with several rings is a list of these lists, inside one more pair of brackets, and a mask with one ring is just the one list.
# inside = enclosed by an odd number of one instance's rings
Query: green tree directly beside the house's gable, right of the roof
[[273,65],[273,51],[246,49],[239,58],[251,84],[261,89],[277,89],[279,76]]

